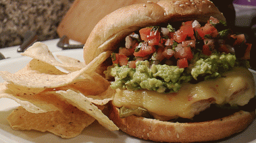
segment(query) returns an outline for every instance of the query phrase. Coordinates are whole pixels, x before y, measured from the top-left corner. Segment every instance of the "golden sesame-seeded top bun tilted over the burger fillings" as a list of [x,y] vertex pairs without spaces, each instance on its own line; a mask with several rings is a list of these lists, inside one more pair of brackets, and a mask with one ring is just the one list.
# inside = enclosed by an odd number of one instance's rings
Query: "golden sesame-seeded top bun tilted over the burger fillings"
[[206,22],[210,16],[225,21],[208,0],[160,0],[122,7],[97,23],[84,44],[84,61],[88,64],[101,52],[115,50],[118,42],[140,28],[193,19]]

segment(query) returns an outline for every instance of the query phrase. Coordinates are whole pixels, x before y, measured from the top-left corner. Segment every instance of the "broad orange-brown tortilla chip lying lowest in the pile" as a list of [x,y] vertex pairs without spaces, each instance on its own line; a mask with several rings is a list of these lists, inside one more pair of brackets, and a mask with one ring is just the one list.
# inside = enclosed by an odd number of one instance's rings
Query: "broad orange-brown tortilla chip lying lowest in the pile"
[[49,111],[47,113],[30,113],[18,107],[7,117],[7,120],[14,130],[48,131],[61,138],[74,138],[92,124],[95,118],[68,105],[63,112]]

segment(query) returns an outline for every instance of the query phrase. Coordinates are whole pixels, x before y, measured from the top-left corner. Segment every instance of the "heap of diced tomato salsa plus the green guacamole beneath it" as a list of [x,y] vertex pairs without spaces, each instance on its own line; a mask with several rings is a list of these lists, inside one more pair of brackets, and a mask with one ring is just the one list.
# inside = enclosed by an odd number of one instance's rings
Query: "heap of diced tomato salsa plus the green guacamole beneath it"
[[247,63],[251,44],[243,34],[232,34],[214,17],[201,24],[151,26],[126,36],[124,47],[111,54],[113,66],[105,71],[106,77],[115,77],[111,87],[176,92],[183,83],[214,79]]

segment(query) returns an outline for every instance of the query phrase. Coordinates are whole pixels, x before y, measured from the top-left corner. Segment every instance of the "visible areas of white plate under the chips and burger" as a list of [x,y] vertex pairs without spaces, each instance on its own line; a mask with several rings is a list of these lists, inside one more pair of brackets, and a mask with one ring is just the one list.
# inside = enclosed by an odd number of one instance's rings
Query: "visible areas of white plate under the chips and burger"
[[[70,56],[83,60],[82,49],[78,50],[63,50],[61,52],[54,52],[53,54],[61,54],[64,56]],[[9,58],[0,60],[0,70],[7,70],[11,73],[15,73],[20,70],[31,60],[28,57]],[[251,70],[256,78],[256,72]],[[0,77],[0,82],[3,79]],[[12,130],[9,126],[6,118],[13,109],[18,107],[18,103],[11,99],[0,99],[0,142],[149,142],[146,140],[140,140],[124,134],[122,131],[110,132],[106,130],[97,122],[85,128],[82,134],[76,138],[63,139],[55,136],[49,132],[37,132],[37,131],[16,131]],[[256,143],[256,121],[247,128],[244,132],[236,134],[226,140],[219,142],[234,143],[234,142],[255,142]]]

